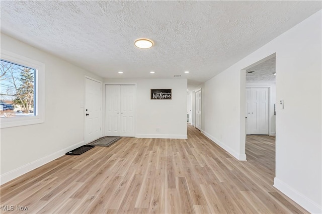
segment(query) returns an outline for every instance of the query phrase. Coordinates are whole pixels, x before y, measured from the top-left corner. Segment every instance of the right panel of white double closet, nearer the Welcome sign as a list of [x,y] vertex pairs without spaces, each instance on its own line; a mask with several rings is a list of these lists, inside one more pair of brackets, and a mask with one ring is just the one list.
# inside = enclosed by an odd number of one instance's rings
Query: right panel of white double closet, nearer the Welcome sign
[[121,104],[121,118],[120,118],[120,136],[134,137],[134,123],[135,123],[135,85],[121,85],[120,87],[120,104]]

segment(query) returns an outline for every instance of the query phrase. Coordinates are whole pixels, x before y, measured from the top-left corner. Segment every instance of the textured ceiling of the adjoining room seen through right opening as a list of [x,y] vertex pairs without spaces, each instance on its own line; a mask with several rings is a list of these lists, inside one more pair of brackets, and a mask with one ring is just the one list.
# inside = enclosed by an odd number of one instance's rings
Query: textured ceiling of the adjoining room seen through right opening
[[[246,70],[246,82],[275,82],[275,57]],[[252,73],[247,73],[254,71]]]

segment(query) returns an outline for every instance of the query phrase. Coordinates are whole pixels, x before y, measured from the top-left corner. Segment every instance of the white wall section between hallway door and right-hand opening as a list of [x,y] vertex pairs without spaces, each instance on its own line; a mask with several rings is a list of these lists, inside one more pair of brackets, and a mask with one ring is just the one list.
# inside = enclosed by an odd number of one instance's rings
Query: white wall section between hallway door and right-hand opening
[[239,81],[239,73],[226,70],[202,85],[201,132],[238,160],[245,160],[245,149],[239,149]]

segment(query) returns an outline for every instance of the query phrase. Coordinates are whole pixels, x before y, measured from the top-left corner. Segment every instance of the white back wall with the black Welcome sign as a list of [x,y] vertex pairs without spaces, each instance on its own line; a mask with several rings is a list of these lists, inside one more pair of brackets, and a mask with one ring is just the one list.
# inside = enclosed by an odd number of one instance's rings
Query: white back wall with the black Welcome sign
[[[137,84],[136,137],[187,138],[187,79],[105,79],[104,82]],[[172,99],[150,99],[153,88],[171,88]]]

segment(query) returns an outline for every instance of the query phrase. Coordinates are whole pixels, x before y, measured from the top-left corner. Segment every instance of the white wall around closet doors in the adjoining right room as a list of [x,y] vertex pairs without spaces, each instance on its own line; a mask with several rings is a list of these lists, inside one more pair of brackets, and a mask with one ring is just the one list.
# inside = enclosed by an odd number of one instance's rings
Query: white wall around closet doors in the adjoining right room
[[276,100],[276,86],[274,82],[259,82],[259,83],[246,83],[246,87],[248,88],[256,88],[256,87],[268,87],[269,88],[269,119],[268,119],[268,135],[274,136],[275,133],[275,115],[274,115],[274,104]]

